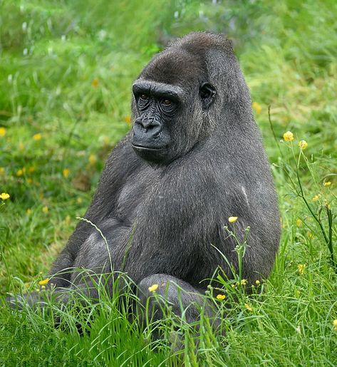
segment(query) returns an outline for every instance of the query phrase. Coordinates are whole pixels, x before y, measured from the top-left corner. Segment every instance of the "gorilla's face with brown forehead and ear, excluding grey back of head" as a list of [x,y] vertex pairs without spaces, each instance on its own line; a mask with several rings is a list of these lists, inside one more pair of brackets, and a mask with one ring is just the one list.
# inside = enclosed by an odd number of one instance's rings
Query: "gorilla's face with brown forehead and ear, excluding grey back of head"
[[201,60],[181,48],[163,51],[133,83],[132,145],[142,159],[167,165],[199,141],[215,90]]

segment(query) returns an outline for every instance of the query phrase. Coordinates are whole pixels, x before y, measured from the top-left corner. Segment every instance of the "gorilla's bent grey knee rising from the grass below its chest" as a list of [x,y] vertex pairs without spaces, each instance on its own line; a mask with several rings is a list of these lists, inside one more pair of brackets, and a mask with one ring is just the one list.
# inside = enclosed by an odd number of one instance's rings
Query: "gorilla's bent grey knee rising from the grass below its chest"
[[[197,321],[202,311],[206,316],[214,317],[214,310],[207,298],[192,285],[175,276],[167,274],[147,276],[140,281],[138,289],[140,304],[146,307],[148,302],[148,316],[154,320],[162,319],[165,305],[171,306],[174,314],[178,316],[183,314],[189,324]],[[153,296],[152,289],[155,289],[157,297]]]

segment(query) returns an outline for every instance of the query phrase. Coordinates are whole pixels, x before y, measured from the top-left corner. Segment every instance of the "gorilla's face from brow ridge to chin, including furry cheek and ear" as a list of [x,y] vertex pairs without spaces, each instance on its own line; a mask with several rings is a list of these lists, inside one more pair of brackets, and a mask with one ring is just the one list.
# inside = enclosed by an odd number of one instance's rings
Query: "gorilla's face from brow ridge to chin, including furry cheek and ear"
[[202,114],[214,100],[207,82],[177,85],[138,79],[133,83],[135,110],[132,145],[148,162],[167,164],[197,143]]

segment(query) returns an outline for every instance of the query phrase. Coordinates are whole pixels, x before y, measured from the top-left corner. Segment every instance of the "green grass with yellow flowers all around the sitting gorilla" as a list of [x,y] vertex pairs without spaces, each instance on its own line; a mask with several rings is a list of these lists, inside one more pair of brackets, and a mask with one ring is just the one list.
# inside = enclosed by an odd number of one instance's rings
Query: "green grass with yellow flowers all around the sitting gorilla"
[[[336,366],[336,16],[333,0],[0,1],[0,192],[10,195],[0,200],[3,296],[47,274],[105,157],[130,128],[131,82],[167,40],[188,31],[235,41],[283,224],[261,296],[227,289],[239,301],[222,320],[224,333],[202,320],[196,343],[169,314],[163,332],[178,325],[182,339],[171,351],[165,339],[150,342],[154,326],[142,332],[116,309],[118,296],[103,295],[80,314],[64,310],[60,328],[53,313],[4,308],[1,366]],[[287,130],[294,141],[280,143]]]

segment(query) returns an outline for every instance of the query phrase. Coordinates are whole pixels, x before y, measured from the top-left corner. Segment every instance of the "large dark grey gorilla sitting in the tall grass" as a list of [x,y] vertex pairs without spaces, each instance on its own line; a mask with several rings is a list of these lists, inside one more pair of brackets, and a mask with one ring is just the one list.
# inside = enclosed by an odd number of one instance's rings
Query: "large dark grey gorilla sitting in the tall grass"
[[[200,304],[219,267],[229,279],[239,272],[237,242],[225,226],[239,239],[250,227],[242,278],[268,276],[279,210],[232,43],[204,32],[177,39],[132,90],[133,128],[108,157],[86,220],[51,268],[62,302],[75,288],[97,297],[71,270],[81,268],[125,272],[143,303],[157,284],[176,313]],[[191,307],[187,319],[196,318]]]

